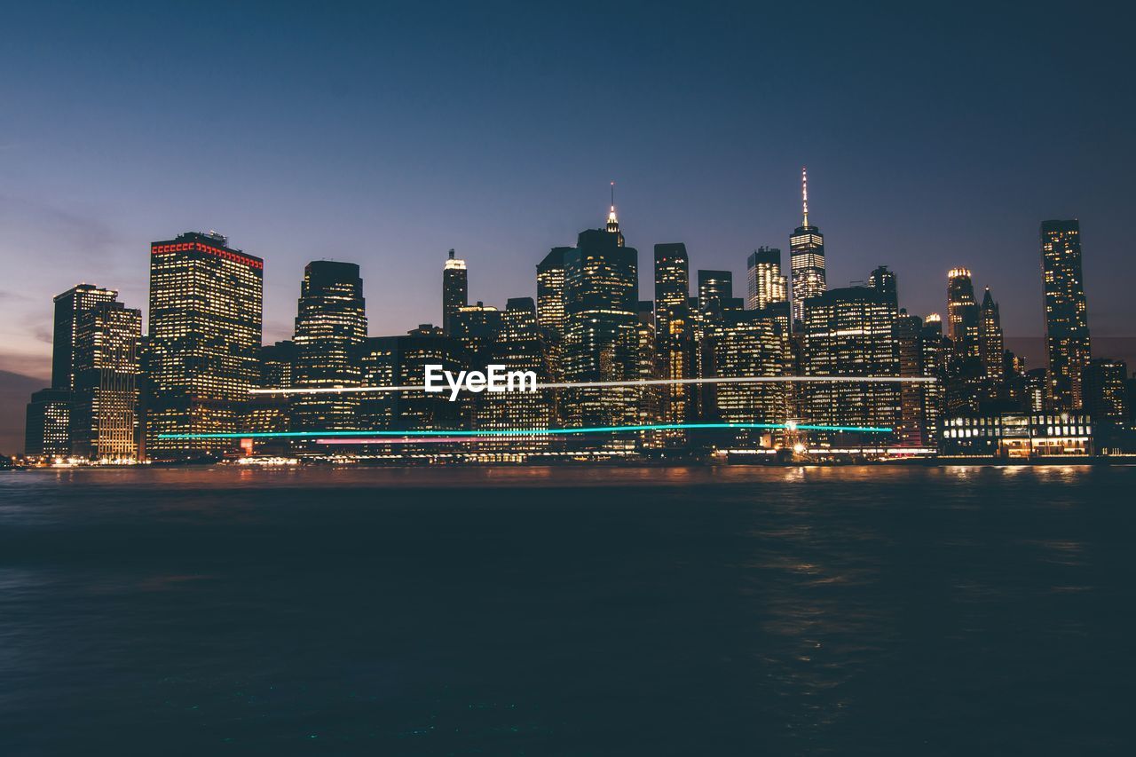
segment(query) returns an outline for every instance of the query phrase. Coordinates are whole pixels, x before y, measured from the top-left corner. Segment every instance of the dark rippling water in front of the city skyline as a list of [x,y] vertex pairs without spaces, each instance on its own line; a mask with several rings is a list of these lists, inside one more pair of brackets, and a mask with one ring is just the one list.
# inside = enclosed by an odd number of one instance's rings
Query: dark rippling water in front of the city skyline
[[1131,754],[1134,484],[0,474],[0,754]]

